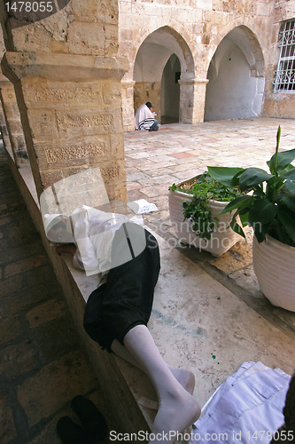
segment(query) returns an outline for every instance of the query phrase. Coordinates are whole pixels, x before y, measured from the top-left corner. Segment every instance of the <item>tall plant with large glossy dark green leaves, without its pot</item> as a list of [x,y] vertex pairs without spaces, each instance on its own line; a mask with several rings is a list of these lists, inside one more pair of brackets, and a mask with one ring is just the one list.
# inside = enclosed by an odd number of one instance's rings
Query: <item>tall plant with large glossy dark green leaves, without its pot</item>
[[[252,226],[258,242],[270,234],[287,245],[295,246],[295,149],[279,152],[281,127],[276,134],[276,153],[267,162],[269,172],[260,168],[208,167],[212,178],[223,185],[238,186],[248,193],[233,199],[222,213],[236,210],[230,224],[236,233],[245,237],[236,222]],[[252,193],[251,193],[252,192]]]

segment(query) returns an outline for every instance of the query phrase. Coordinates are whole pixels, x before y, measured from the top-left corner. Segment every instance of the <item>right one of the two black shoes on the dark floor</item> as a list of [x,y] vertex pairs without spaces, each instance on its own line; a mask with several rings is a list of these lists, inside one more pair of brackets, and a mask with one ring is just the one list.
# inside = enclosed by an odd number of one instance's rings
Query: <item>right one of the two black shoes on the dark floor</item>
[[105,418],[93,402],[78,395],[72,400],[71,406],[75,414],[79,417],[83,429],[89,438],[95,442],[104,440],[107,434]]

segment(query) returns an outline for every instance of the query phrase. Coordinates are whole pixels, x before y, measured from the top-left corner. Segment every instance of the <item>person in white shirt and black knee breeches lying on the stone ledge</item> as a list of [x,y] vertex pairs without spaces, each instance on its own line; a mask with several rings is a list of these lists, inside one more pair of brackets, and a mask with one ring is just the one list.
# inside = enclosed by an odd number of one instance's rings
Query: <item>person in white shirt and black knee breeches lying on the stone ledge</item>
[[[86,304],[84,328],[109,353],[116,353],[150,377],[159,399],[153,444],[175,442],[175,433],[200,414],[191,396],[194,375],[168,366],[159,354],[147,322],[159,276],[159,245],[155,237],[121,214],[80,205],[69,218],[45,215],[51,242],[74,242],[59,252],[74,253],[74,266],[86,274],[104,273]],[[164,438],[163,438],[164,436]]]

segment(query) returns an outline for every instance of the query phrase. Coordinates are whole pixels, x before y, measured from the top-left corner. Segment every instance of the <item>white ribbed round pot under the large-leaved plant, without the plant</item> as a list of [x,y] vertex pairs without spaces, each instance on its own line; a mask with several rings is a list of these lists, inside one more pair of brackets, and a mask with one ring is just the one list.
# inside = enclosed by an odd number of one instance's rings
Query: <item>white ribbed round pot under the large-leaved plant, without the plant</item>
[[276,306],[295,312],[295,248],[267,234],[253,240],[253,268],[264,296]]

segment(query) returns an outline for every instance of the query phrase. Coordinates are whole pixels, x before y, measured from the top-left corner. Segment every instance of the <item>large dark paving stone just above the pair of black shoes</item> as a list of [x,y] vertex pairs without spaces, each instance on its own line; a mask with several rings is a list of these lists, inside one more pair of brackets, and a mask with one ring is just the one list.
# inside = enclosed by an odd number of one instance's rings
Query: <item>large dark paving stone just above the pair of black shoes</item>
[[63,408],[77,393],[95,388],[88,362],[81,353],[73,352],[27,378],[17,387],[17,396],[31,427]]

